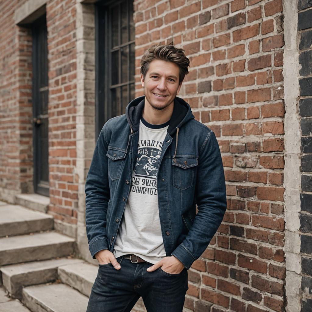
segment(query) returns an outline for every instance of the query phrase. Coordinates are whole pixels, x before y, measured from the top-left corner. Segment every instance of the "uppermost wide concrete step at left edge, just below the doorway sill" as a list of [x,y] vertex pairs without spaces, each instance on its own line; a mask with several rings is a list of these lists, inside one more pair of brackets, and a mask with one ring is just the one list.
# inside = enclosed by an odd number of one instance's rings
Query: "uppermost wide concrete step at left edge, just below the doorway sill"
[[53,229],[51,215],[19,205],[0,205],[0,237],[28,234]]

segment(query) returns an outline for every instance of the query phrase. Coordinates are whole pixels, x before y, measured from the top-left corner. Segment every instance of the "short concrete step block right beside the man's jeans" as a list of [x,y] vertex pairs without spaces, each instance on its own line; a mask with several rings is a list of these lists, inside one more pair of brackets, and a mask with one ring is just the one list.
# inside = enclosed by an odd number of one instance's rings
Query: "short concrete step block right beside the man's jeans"
[[58,275],[62,283],[70,285],[86,296],[90,296],[99,267],[87,262],[60,266]]

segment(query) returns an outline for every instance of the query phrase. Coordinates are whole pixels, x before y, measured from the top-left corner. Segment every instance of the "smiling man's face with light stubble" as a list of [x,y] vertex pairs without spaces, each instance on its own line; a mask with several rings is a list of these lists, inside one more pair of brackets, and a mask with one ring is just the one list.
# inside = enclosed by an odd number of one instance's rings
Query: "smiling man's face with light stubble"
[[141,74],[141,83],[147,104],[163,110],[173,103],[181,88],[179,67],[173,62],[155,59],[150,62],[145,78]]

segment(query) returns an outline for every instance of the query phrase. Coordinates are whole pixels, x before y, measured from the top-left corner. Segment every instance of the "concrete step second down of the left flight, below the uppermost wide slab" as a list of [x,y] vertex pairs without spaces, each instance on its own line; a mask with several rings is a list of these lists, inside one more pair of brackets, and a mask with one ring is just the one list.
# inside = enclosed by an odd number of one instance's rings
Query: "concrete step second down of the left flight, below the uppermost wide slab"
[[75,240],[56,232],[0,238],[0,265],[69,256]]

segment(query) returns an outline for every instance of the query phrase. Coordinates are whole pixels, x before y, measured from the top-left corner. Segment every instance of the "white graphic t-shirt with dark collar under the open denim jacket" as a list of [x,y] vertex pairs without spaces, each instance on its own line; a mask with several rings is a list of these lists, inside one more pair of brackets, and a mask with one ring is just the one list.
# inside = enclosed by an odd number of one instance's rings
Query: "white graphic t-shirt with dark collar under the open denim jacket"
[[166,256],[158,211],[157,171],[168,125],[169,121],[152,125],[141,117],[130,193],[114,245],[116,258],[134,254],[155,264]]

